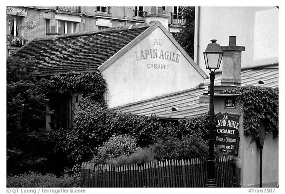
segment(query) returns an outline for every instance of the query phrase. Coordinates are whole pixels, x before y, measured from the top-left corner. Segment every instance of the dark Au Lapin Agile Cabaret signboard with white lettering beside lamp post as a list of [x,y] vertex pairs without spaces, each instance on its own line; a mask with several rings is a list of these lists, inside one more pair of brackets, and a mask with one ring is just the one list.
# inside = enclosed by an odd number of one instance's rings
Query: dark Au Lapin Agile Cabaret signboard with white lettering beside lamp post
[[216,115],[216,145],[221,152],[238,156],[239,115],[218,113]]

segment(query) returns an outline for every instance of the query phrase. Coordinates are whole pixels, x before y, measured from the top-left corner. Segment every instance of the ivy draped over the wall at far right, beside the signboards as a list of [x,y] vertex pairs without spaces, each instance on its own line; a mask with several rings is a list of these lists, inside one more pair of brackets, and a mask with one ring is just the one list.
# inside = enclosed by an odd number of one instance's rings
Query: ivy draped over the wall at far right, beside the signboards
[[258,128],[261,121],[265,122],[265,133],[272,133],[278,137],[279,122],[279,88],[243,86],[236,89],[228,89],[222,93],[238,94],[241,102],[240,109],[243,112],[244,134],[252,135],[251,142],[258,139]]

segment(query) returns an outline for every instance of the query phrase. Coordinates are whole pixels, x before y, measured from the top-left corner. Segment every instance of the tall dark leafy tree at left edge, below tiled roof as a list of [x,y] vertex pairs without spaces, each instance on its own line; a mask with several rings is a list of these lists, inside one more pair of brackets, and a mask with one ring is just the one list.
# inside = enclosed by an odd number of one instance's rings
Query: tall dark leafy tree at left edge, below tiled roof
[[7,164],[13,169],[28,169],[46,159],[40,146],[46,133],[40,123],[45,118],[47,80],[35,77],[39,73],[31,71],[33,63],[32,58],[6,61]]

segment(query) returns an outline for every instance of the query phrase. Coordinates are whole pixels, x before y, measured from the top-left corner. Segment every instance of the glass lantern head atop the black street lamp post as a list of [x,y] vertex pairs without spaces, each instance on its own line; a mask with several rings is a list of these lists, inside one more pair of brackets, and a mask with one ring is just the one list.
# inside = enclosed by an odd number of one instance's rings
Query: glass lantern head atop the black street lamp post
[[206,69],[215,72],[220,68],[224,52],[220,44],[216,43],[216,39],[211,40],[212,43],[208,44],[204,53]]

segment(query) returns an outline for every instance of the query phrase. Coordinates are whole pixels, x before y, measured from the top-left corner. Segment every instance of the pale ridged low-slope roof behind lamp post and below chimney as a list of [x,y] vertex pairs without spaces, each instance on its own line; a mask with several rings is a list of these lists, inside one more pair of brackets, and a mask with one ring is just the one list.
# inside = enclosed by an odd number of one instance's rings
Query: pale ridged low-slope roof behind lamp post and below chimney
[[[278,79],[278,66],[241,71],[241,86],[260,85],[264,87],[278,87]],[[264,83],[259,84],[258,82],[261,81]],[[215,84],[218,85],[220,83],[221,74],[217,74]],[[110,110],[146,116],[155,113],[156,116],[160,118],[188,118],[199,116],[209,111],[208,103],[199,102],[199,96],[208,89],[209,84],[210,81],[206,80],[204,84],[196,88],[111,108]],[[174,109],[176,109],[176,111],[173,111]]]

